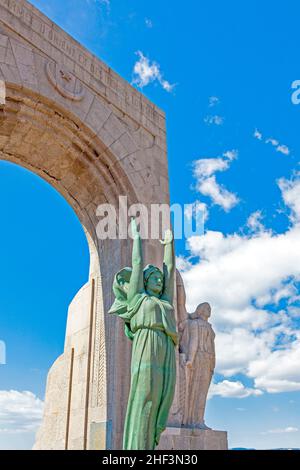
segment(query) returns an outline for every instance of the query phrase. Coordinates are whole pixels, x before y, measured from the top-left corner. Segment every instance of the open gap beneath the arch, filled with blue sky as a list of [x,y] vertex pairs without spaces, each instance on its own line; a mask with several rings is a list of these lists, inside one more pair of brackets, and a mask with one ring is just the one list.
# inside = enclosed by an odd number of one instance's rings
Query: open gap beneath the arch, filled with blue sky
[[27,410],[1,432],[1,445],[9,434],[10,446],[28,448],[40,424],[48,370],[64,351],[69,305],[99,263],[77,215],[51,185],[3,160],[0,181],[0,331],[7,346],[1,378],[8,384],[0,393],[7,410],[10,401]]

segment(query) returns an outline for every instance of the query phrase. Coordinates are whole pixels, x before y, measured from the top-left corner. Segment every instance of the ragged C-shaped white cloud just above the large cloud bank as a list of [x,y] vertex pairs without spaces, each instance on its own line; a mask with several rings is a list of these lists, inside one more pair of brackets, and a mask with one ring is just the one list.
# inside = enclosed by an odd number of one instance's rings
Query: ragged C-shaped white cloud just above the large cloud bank
[[215,173],[228,170],[231,162],[237,156],[237,150],[229,150],[221,157],[201,158],[194,162],[196,190],[203,196],[209,197],[213,204],[222,207],[226,212],[238,204],[239,199],[236,194],[231,193],[218,183]]

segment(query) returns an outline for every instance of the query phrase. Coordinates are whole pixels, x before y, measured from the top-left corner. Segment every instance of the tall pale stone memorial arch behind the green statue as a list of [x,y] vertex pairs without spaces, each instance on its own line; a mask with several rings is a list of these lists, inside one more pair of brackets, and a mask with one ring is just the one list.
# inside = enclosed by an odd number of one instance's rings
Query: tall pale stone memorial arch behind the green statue
[[[121,448],[130,345],[122,322],[106,312],[131,243],[99,240],[96,208],[118,209],[121,195],[128,205],[169,202],[164,114],[30,3],[0,0],[0,158],[66,198],[91,254],[64,352],[49,372],[35,447]],[[156,246],[149,241],[146,255],[160,264]]]

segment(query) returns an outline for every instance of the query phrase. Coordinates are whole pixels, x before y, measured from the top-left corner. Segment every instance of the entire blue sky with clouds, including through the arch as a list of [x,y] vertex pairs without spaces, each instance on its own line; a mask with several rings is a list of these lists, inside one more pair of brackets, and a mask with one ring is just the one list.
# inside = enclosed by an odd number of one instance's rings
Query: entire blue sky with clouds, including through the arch
[[[188,307],[213,307],[207,424],[228,430],[231,447],[299,447],[299,3],[32,3],[166,112],[171,201],[207,213],[204,237],[176,246]],[[28,390],[29,416],[62,352],[88,249],[49,185],[3,162],[0,181],[0,403],[9,416],[24,396],[4,392]],[[32,436],[0,429],[0,448]]]

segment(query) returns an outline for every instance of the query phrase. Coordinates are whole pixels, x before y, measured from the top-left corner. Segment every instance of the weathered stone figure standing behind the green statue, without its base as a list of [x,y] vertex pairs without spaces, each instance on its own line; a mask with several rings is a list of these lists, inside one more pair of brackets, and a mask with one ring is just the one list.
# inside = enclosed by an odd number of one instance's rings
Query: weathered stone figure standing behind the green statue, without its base
[[177,273],[177,305],[180,332],[180,368],[184,393],[182,425],[209,429],[204,422],[208,389],[215,368],[215,333],[208,319],[211,307],[207,302],[198,305],[194,313],[185,308],[185,290]]

